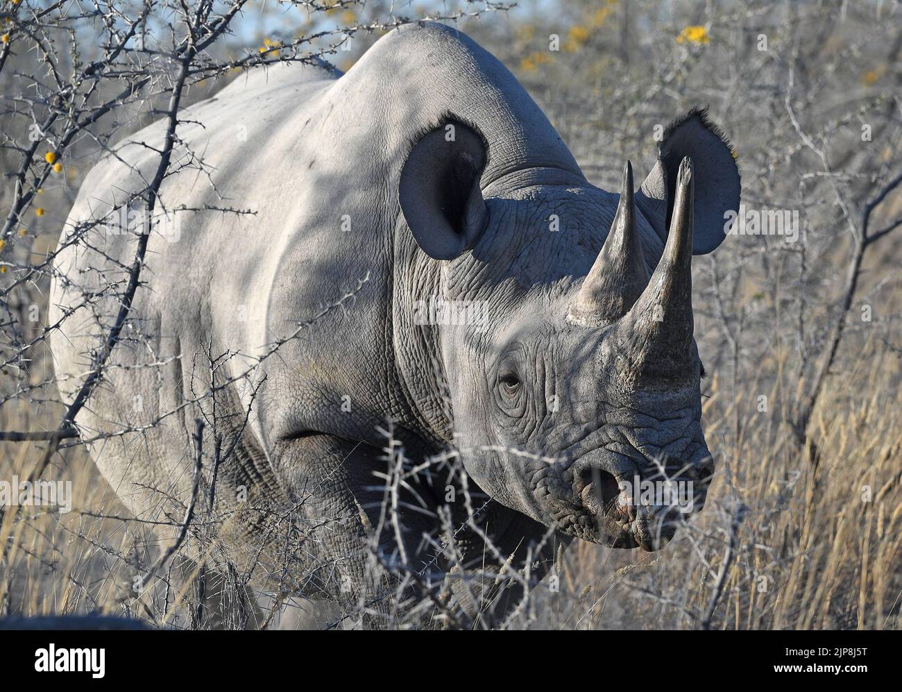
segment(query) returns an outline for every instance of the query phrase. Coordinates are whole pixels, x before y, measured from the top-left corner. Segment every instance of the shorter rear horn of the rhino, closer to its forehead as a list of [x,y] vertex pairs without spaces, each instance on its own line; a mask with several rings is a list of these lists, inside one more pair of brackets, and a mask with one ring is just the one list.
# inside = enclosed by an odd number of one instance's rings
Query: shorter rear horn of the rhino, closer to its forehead
[[592,269],[576,294],[568,319],[583,327],[602,327],[623,317],[642,294],[649,272],[636,233],[632,165],[623,167],[617,213]]

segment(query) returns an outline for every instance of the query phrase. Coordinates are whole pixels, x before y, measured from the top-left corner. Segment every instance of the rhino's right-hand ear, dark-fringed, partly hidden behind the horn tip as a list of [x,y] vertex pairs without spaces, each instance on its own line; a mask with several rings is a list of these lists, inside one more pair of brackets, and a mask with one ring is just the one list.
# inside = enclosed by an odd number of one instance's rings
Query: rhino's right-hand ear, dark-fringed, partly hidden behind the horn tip
[[658,144],[658,163],[636,194],[636,205],[661,241],[666,241],[676,198],[676,171],[686,156],[692,159],[695,179],[692,254],[707,254],[723,242],[728,219],[736,217],[741,187],[732,147],[708,120],[706,108],[694,108],[667,125]]

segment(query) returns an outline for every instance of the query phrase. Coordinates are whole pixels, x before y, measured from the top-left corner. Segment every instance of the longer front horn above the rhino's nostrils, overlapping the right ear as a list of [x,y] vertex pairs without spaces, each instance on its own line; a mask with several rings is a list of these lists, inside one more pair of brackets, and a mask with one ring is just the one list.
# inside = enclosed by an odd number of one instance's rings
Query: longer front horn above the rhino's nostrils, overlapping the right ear
[[644,377],[671,379],[691,372],[692,230],[695,182],[692,160],[680,163],[667,245],[649,285],[618,325],[619,343]]

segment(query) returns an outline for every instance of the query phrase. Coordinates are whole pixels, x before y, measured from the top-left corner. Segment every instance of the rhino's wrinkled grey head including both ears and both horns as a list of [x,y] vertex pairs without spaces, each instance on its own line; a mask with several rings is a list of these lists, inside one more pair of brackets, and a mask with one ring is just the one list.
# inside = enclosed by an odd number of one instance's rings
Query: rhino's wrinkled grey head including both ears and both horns
[[629,162],[619,197],[540,177],[504,189],[481,181],[483,136],[454,126],[453,142],[446,126],[419,139],[399,198],[443,298],[476,317],[434,337],[467,474],[558,531],[658,549],[713,474],[691,263],[739,206],[732,151],[694,111],[638,192]]

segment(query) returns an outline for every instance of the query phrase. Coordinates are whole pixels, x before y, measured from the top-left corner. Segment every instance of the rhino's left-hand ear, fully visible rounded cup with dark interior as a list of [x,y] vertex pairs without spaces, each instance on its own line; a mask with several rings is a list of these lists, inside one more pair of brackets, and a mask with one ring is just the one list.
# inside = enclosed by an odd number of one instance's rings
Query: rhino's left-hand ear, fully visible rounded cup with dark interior
[[479,182],[483,138],[449,120],[414,144],[400,171],[398,201],[423,252],[453,260],[472,248],[488,223]]

